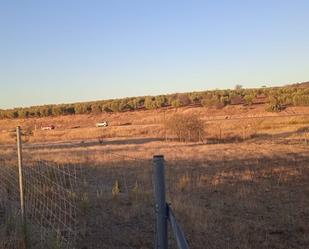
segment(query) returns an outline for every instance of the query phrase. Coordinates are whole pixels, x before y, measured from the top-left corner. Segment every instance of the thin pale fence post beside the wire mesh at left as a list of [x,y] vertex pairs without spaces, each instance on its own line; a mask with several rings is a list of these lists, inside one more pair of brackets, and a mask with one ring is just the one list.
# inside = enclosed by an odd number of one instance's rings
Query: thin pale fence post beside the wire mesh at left
[[24,186],[23,186],[23,172],[22,172],[22,141],[21,141],[21,129],[20,126],[16,127],[17,137],[17,156],[18,156],[18,176],[19,176],[19,194],[20,194],[20,212],[22,222],[25,222],[25,206],[24,206]]

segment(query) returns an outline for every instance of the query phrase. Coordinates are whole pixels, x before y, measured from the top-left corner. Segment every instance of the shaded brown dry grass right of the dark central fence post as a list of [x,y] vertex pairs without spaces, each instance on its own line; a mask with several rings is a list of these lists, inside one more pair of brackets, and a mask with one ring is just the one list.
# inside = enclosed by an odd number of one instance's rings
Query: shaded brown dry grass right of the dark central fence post
[[308,162],[290,153],[170,163],[169,198],[190,247],[305,249]]

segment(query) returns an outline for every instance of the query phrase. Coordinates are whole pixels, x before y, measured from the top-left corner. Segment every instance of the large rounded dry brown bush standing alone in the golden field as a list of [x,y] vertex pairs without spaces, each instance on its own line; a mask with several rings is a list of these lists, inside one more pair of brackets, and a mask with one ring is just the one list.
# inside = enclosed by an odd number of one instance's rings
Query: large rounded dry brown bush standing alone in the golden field
[[196,114],[174,114],[165,126],[179,141],[201,141],[205,133],[204,122]]

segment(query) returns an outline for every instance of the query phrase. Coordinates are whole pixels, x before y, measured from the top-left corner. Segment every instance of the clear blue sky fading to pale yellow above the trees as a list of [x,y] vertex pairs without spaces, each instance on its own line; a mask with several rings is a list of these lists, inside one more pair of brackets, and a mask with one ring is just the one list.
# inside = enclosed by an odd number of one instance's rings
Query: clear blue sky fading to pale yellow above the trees
[[307,0],[0,0],[0,108],[309,80]]

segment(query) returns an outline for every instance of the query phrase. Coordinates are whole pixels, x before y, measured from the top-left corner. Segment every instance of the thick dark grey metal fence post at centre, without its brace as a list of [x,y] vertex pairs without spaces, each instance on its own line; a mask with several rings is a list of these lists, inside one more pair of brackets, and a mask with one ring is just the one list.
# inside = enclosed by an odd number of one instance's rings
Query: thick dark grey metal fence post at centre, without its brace
[[155,155],[154,182],[155,182],[155,209],[156,209],[156,249],[167,249],[167,218],[168,209],[165,200],[165,172],[164,156]]

